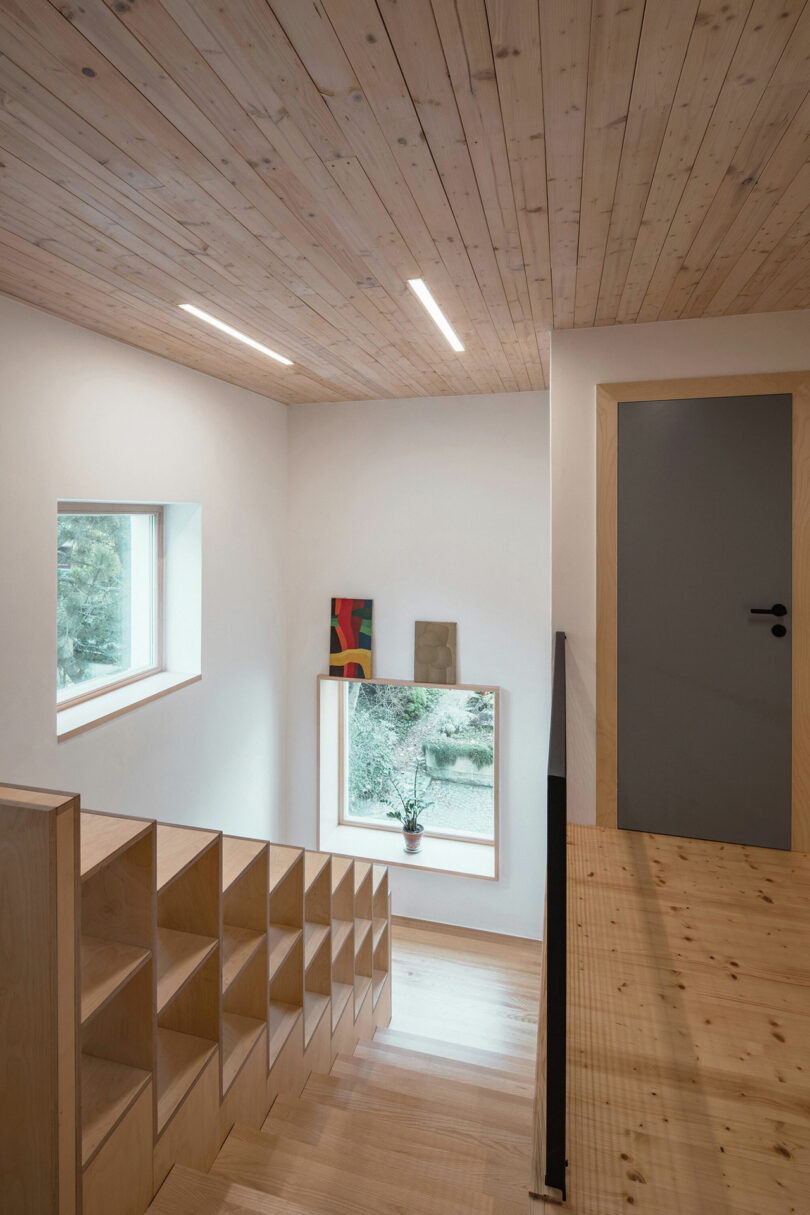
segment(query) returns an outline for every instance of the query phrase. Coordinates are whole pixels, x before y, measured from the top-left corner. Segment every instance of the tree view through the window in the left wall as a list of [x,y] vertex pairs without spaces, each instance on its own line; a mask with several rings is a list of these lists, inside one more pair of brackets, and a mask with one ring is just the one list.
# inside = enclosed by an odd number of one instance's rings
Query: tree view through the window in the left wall
[[60,504],[60,708],[160,669],[162,525],[160,507]]

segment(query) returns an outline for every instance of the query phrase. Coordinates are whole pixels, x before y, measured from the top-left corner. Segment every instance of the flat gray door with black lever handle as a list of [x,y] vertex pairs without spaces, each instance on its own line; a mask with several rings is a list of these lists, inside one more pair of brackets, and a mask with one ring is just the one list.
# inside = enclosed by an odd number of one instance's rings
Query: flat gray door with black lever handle
[[791,531],[789,396],[619,403],[621,827],[791,847]]

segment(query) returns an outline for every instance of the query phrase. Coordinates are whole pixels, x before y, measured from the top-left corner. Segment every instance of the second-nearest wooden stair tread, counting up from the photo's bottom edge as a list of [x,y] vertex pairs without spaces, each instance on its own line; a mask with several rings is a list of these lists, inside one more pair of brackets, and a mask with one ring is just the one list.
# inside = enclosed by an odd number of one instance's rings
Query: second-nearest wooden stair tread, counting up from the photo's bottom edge
[[403,1210],[408,1215],[516,1215],[525,1209],[525,1204],[464,1189],[455,1181],[434,1181],[430,1192],[424,1192],[417,1188],[424,1182],[417,1159],[407,1169],[404,1163],[397,1168],[392,1157],[358,1151],[350,1160],[345,1146],[313,1147],[242,1126],[228,1135],[211,1172],[300,1200],[323,1215],[402,1215]]

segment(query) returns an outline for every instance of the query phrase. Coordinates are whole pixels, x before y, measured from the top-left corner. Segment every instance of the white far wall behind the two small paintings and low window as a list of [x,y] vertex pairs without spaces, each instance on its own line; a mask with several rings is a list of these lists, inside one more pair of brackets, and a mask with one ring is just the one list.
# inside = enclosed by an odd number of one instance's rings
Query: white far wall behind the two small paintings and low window
[[333,595],[374,600],[374,673],[413,678],[415,620],[459,626],[499,684],[500,881],[392,870],[400,915],[538,937],[549,708],[548,394],[290,411],[290,842],[316,842],[316,676]]

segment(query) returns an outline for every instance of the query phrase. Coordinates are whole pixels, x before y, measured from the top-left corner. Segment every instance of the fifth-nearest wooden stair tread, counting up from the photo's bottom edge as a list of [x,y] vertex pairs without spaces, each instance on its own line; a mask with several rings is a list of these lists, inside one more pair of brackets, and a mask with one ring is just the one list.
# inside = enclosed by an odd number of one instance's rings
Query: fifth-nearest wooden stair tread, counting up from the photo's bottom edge
[[376,1059],[338,1055],[332,1066],[332,1075],[342,1079],[367,1080],[375,1086],[423,1097],[461,1112],[474,1107],[478,1112],[488,1112],[493,1119],[506,1119],[510,1124],[526,1124],[533,1111],[531,1096],[515,1096],[485,1087],[474,1081],[452,1080],[442,1075],[432,1076],[425,1072],[410,1072],[395,1067],[392,1063],[380,1063]]

